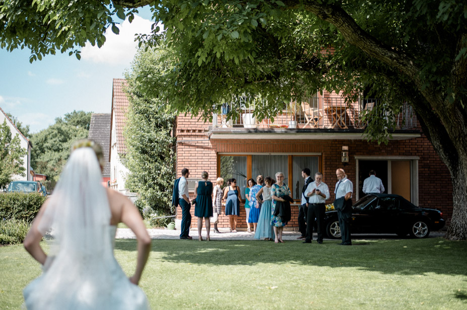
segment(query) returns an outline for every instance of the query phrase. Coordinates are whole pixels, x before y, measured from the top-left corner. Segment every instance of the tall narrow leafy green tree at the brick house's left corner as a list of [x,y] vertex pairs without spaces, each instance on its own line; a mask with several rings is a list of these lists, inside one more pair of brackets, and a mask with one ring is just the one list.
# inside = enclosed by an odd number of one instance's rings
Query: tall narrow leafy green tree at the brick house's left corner
[[127,93],[130,107],[124,130],[127,153],[125,166],[129,170],[125,187],[141,195],[145,206],[158,213],[172,214],[172,188],[175,179],[175,114],[169,113],[157,97],[138,90],[142,71],[160,74],[164,63],[160,51],[140,51],[127,72]]

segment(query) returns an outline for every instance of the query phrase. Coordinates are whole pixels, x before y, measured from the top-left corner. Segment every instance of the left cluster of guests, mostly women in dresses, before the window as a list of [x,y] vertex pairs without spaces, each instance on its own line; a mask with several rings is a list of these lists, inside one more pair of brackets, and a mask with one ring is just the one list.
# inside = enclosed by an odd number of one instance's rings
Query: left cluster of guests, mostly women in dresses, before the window
[[[222,206],[225,205],[224,214],[229,217],[230,232],[237,232],[237,218],[240,215],[242,197],[237,180],[232,178],[227,181],[227,186],[222,189],[223,178],[217,178],[216,185],[209,181],[208,173],[204,171],[202,180],[196,183],[195,197],[190,202],[188,193],[188,183],[186,178],[189,170],[183,168],[182,176],[177,179],[174,185],[174,195],[178,197],[178,204],[182,209],[182,220],[180,229],[180,239],[192,239],[188,235],[191,226],[191,205],[194,205],[194,215],[198,218],[198,240],[203,241],[201,234],[203,229],[203,218],[206,227],[206,240],[210,241],[211,221],[214,224],[214,232],[220,232],[217,224]],[[253,224],[254,238],[264,240],[274,240],[276,243],[283,243],[282,231],[284,226],[290,221],[290,202],[293,201],[289,186],[284,183],[284,174],[278,172],[276,179],[271,177],[263,178],[257,176],[256,182],[248,180],[248,187],[245,190],[245,210],[248,232],[251,232]]]

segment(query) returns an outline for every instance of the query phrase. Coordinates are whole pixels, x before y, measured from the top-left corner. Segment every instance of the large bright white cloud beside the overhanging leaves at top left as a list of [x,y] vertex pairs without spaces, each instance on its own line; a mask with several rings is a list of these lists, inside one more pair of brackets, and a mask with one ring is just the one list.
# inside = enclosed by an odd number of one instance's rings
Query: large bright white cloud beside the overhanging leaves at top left
[[151,33],[153,22],[135,15],[131,22],[125,20],[117,27],[120,29],[118,35],[114,34],[110,27],[106,30],[106,40],[101,48],[86,44],[81,51],[81,56],[85,60],[96,63],[107,63],[111,65],[130,63],[136,53],[138,42],[135,42],[135,34]]

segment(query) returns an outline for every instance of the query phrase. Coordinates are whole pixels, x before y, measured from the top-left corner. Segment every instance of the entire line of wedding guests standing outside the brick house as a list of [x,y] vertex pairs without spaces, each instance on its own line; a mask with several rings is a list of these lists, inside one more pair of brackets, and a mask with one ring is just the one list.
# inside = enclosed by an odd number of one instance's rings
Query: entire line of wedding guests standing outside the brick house
[[[198,240],[203,241],[201,236],[203,228],[203,218],[207,231],[206,240],[210,240],[211,220],[214,223],[214,232],[220,232],[217,224],[219,214],[223,205],[224,213],[229,217],[230,232],[237,232],[237,217],[240,215],[242,197],[240,187],[236,179],[229,179],[227,186],[223,189],[223,178],[217,178],[216,185],[208,179],[208,173],[202,173],[202,180],[197,182],[195,187],[195,198],[190,204],[187,181],[189,170],[182,170],[182,177],[178,185],[178,199],[182,208],[182,222],[180,239],[192,239],[188,236],[191,225],[190,205],[194,204],[194,215],[198,218]],[[341,245],[352,245],[350,236],[350,219],[352,217],[352,193],[353,183],[347,178],[343,169],[336,171],[338,182],[335,186],[334,206],[338,211],[339,224],[341,228]],[[322,244],[324,237],[324,213],[325,202],[330,198],[329,188],[323,182],[323,174],[317,172],[314,180],[310,176],[310,169],[302,170],[302,177],[305,179],[301,194],[301,206],[298,214],[298,224],[300,236],[298,239],[305,239],[303,243],[311,243],[313,239],[313,227],[317,227],[317,243]],[[277,180],[277,181],[276,181]],[[284,226],[290,221],[291,207],[293,202],[291,191],[284,183],[284,174],[278,172],[276,180],[271,177],[263,178],[259,175],[247,181],[248,187],[245,189],[245,211],[248,232],[254,232],[255,239],[274,240],[276,243],[283,243],[282,232]],[[379,180],[379,181],[377,181]],[[365,180],[368,188],[382,187],[379,178],[375,178],[375,172],[370,171],[370,178]],[[381,189],[380,189],[381,190]],[[382,187],[384,191],[384,187]],[[175,193],[175,189],[174,189]],[[213,198],[214,197],[214,198]],[[251,225],[252,224],[252,225]],[[253,230],[251,230],[251,226]]]

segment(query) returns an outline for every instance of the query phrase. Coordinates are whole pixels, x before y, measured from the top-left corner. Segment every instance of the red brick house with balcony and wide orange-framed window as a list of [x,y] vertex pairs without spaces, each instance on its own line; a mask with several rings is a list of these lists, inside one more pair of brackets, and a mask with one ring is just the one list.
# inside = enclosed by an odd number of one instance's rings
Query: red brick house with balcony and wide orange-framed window
[[[358,100],[351,104],[336,93],[323,92],[293,102],[272,120],[260,123],[251,118],[241,97],[228,109],[239,111],[236,118],[226,120],[214,115],[213,122],[198,116],[177,118],[177,177],[182,168],[190,169],[190,196],[196,180],[207,171],[211,181],[218,176],[234,177],[244,189],[246,180],[258,174],[275,178],[281,171],[296,199],[292,220],[287,229],[298,230],[298,201],[303,179],[301,170],[320,171],[329,186],[331,203],[337,182],[336,169],[343,168],[354,184],[353,200],[363,196],[363,180],[369,170],[382,179],[385,193],[399,194],[415,205],[439,208],[449,222],[452,215],[452,185],[449,171],[423,134],[414,113],[406,106],[395,116],[396,129],[387,145],[368,142],[362,135],[366,124],[362,110],[377,109],[378,99]],[[385,117],[382,115],[382,117]],[[291,122],[292,121],[292,122]],[[246,229],[244,208],[240,208],[238,227]],[[194,216],[194,208],[191,208]],[[181,208],[177,210],[177,226]],[[196,221],[192,220],[192,227]],[[228,218],[220,216],[220,227],[228,227]]]

